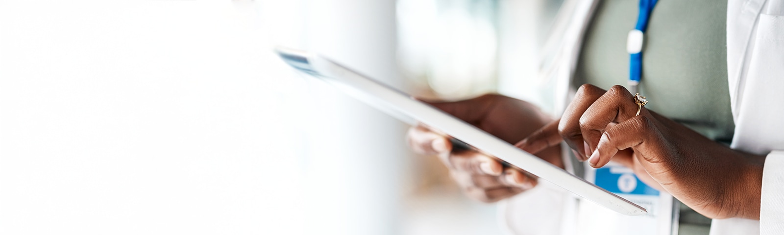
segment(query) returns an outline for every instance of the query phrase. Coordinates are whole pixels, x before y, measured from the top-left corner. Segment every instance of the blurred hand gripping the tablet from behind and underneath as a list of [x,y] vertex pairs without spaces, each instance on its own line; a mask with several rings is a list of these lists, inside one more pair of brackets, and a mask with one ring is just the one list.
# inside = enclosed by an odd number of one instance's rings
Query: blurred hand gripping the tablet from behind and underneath
[[[531,103],[499,95],[430,104],[508,143],[524,139],[554,120]],[[447,137],[422,125],[408,130],[408,144],[419,154],[441,158],[463,193],[479,201],[494,202],[512,197],[537,183],[535,176],[504,167],[493,157],[474,150],[452,148]],[[563,168],[561,148],[557,144],[543,147],[536,155]]]

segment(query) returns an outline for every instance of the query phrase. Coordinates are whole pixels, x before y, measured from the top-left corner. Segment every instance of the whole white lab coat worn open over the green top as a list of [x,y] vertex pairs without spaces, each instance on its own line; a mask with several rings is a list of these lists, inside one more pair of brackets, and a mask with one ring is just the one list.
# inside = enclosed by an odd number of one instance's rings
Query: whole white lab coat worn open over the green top
[[[572,99],[572,75],[590,16],[600,0],[567,0],[544,47],[541,75],[555,79],[555,110]],[[784,231],[784,0],[728,0],[727,63],[735,136],[731,147],[767,154],[760,220],[714,219],[710,234]],[[568,167],[569,168],[569,167]],[[543,183],[500,204],[510,233],[575,234],[579,199]],[[550,201],[543,203],[542,201]],[[535,203],[532,203],[535,202]],[[552,211],[543,215],[540,211]]]

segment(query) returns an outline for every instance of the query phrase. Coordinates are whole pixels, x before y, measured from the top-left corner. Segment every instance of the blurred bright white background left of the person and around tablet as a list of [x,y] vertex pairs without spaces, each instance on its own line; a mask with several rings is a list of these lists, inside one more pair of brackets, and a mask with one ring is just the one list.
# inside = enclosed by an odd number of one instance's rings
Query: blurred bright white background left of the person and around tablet
[[407,125],[273,47],[419,97],[548,103],[528,91],[560,5],[0,1],[0,233],[502,234]]

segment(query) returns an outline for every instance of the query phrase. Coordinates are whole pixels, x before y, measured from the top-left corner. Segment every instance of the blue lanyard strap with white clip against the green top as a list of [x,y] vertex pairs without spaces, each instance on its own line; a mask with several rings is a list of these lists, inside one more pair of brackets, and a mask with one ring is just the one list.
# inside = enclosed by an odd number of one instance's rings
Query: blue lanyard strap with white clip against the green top
[[640,14],[637,15],[637,26],[629,32],[626,38],[626,51],[630,54],[630,74],[629,85],[632,93],[637,92],[637,85],[640,84],[642,77],[642,45],[644,42],[645,29],[648,28],[648,20],[651,12],[658,0],[640,0]]

